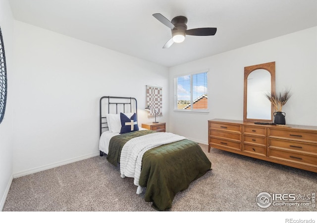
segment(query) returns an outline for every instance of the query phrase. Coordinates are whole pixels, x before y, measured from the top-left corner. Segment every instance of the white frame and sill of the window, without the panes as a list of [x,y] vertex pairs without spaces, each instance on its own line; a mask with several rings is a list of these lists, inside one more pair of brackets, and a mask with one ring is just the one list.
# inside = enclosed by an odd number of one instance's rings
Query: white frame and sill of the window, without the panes
[[[193,102],[195,101],[193,99],[193,76],[197,75],[197,74],[201,74],[201,73],[207,73],[207,96],[208,96],[208,73],[209,73],[209,69],[204,69],[204,70],[200,70],[200,71],[196,71],[196,72],[190,72],[187,74],[180,74],[180,75],[175,75],[174,76],[174,110],[175,112],[187,112],[187,113],[209,113],[209,100],[208,100],[208,104],[207,104],[207,109],[192,109],[193,108]],[[191,109],[177,109],[177,102],[178,102],[178,95],[177,95],[177,90],[178,90],[178,82],[177,79],[179,77],[184,77],[184,76],[190,76],[190,106]]]

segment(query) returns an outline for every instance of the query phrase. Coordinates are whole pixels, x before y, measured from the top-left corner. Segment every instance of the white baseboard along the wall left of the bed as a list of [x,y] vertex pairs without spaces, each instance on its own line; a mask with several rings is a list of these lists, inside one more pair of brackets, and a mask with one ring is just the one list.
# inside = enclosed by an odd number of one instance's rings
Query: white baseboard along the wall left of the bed
[[85,160],[85,159],[88,159],[88,158],[91,158],[91,157],[96,157],[96,156],[99,156],[99,154],[100,154],[99,152],[92,153],[92,154],[89,154],[89,155],[75,157],[75,158],[72,158],[72,159],[69,159],[69,160],[64,160],[64,161],[61,161],[61,162],[45,165],[45,166],[42,166],[42,167],[36,167],[36,168],[28,169],[28,170],[25,170],[25,171],[16,172],[16,173],[13,173],[13,178],[26,176],[26,175],[29,175],[29,174],[32,174],[32,173],[35,173],[35,172],[40,172],[40,171],[43,171],[43,170],[46,170],[46,169],[51,169],[51,168],[54,168],[54,167],[63,166],[65,164],[70,164],[70,163],[74,163],[74,162],[77,162],[77,161]]

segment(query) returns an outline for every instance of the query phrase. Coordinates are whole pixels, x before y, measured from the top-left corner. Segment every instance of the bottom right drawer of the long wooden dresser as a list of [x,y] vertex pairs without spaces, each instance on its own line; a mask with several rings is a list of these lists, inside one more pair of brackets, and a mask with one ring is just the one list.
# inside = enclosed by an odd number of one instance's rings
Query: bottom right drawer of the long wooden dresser
[[298,163],[303,165],[308,165],[312,167],[317,167],[317,156],[301,154],[296,152],[289,152],[285,150],[278,150],[278,149],[268,149],[268,157],[289,161],[292,163]]

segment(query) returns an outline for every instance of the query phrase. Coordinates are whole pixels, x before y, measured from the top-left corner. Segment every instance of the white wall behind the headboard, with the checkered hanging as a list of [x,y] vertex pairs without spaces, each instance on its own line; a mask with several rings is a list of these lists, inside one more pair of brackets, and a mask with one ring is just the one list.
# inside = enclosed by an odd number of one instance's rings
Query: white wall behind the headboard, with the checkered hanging
[[14,60],[14,176],[98,155],[102,96],[135,97],[149,122],[146,85],[161,86],[168,117],[166,67],[19,21]]

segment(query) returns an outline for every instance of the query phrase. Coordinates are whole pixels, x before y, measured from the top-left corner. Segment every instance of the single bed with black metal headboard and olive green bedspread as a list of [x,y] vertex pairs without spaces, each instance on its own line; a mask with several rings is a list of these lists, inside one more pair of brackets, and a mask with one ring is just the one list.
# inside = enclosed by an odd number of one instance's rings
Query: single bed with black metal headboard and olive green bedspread
[[211,162],[196,142],[138,125],[135,98],[102,97],[100,156],[119,165],[122,178],[133,177],[136,193],[145,190],[145,201],[155,209],[168,210],[176,193],[211,170]]

